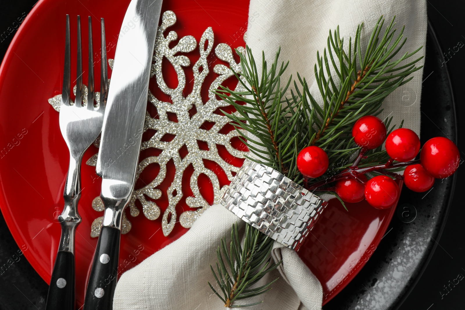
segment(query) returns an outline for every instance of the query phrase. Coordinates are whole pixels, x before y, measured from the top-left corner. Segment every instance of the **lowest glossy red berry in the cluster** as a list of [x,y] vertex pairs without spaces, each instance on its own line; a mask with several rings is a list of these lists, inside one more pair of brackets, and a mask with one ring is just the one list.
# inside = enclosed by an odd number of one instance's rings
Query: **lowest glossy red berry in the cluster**
[[392,207],[399,197],[399,186],[385,175],[371,178],[365,184],[366,201],[376,209]]

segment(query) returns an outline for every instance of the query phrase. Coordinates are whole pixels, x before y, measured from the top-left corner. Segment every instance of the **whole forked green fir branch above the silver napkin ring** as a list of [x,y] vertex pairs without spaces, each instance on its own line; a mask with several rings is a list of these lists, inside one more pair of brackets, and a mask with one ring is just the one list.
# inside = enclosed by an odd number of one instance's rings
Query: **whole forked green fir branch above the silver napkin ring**
[[[225,114],[234,121],[241,140],[255,155],[250,157],[251,160],[268,165],[297,183],[302,183],[303,178],[297,170],[296,157],[308,145],[318,145],[326,151],[331,173],[352,164],[344,162],[341,165],[341,161],[359,150],[351,135],[355,121],[365,115],[378,115],[383,100],[410,81],[412,77],[409,76],[421,68],[415,66],[421,58],[410,61],[419,49],[393,60],[405,44],[404,29],[395,36],[394,19],[385,27],[384,33],[381,31],[383,25],[381,17],[364,53],[360,47],[363,24],[358,26],[355,40],[352,42],[349,38],[348,48],[344,47],[339,27],[330,31],[327,48],[322,56],[317,53],[314,69],[318,97],[310,93],[306,79],[298,74],[290,98],[285,98],[283,94],[292,77],[285,87],[280,88],[280,77],[287,63],[279,64],[279,51],[269,70],[262,53],[259,75],[252,52],[246,46],[246,54],[240,54],[242,73],[234,73],[246,91],[235,92],[222,86],[215,93],[236,108],[237,113]],[[361,165],[379,161],[379,152],[367,152]],[[328,177],[325,174],[309,182]]]

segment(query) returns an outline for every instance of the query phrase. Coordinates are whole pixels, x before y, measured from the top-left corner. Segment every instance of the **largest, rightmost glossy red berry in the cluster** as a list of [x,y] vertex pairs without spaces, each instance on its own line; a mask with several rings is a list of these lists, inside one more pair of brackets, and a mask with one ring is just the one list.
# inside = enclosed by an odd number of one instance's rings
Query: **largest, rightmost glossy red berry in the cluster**
[[426,141],[420,153],[423,168],[434,178],[447,178],[458,169],[460,153],[457,145],[444,137]]

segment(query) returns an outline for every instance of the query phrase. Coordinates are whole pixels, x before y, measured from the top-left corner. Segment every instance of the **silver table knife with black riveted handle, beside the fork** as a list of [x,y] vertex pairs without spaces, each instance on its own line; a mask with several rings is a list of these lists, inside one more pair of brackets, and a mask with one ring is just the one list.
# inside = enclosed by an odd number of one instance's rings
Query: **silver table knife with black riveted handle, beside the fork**
[[113,308],[121,218],[134,188],[161,4],[162,0],[132,0],[121,26],[97,160],[105,213],[84,310]]

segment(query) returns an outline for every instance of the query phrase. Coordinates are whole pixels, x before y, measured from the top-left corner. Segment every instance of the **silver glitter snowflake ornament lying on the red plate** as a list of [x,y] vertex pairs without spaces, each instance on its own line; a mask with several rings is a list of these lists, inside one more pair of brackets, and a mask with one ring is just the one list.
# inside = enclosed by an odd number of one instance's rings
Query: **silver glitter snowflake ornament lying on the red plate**
[[[209,63],[207,56],[213,50],[213,30],[208,27],[202,34],[199,44],[193,36],[185,36],[179,39],[178,43],[170,48],[169,45],[174,40],[177,40],[177,33],[170,31],[165,36],[165,31],[168,27],[176,23],[176,15],[172,11],[166,11],[162,17],[162,24],[159,26],[157,38],[155,43],[155,50],[153,55],[153,64],[151,68],[151,77],[156,79],[159,89],[166,95],[170,96],[172,102],[161,101],[149,91],[148,100],[153,106],[156,107],[158,112],[157,116],[152,117],[146,112],[146,119],[144,125],[144,132],[153,130],[155,133],[148,141],[143,141],[141,151],[149,148],[160,150],[158,156],[149,156],[143,158],[136,171],[136,179],[140,174],[151,164],[159,165],[158,175],[147,185],[140,189],[133,191],[132,198],[129,202],[129,210],[131,216],[138,216],[140,213],[139,208],[136,206],[136,201],[139,200],[142,205],[142,212],[144,216],[150,220],[155,220],[161,215],[161,210],[157,203],[154,201],[159,199],[162,192],[157,188],[166,179],[166,166],[168,162],[172,161],[176,168],[174,178],[171,185],[167,190],[168,206],[162,215],[162,231],[167,236],[175,226],[179,223],[183,227],[191,227],[195,219],[209,207],[209,204],[202,197],[198,184],[198,178],[201,174],[206,175],[213,185],[213,203],[219,202],[223,196],[227,186],[220,188],[218,176],[214,171],[206,168],[204,159],[215,162],[226,173],[226,177],[231,180],[233,172],[239,171],[239,167],[233,165],[227,159],[222,158],[218,153],[217,145],[222,145],[226,150],[236,158],[244,158],[244,152],[240,151],[231,145],[231,139],[239,136],[235,130],[228,133],[220,133],[221,129],[227,125],[230,120],[222,115],[214,113],[219,108],[228,107],[229,105],[223,100],[216,98],[213,90],[218,89],[219,86],[228,78],[233,76],[233,69],[235,72],[241,72],[240,63],[236,63],[233,57],[233,51],[230,46],[220,43],[215,47],[215,55],[218,59],[223,60],[229,66],[217,64],[213,67],[213,72],[219,76],[214,79],[209,87],[208,100],[203,102],[200,91],[204,80],[209,73]],[[186,97],[183,90],[186,86],[185,67],[190,66],[190,60],[185,55],[179,53],[189,53],[199,48],[199,59],[193,65],[193,90]],[[238,48],[239,53],[244,53],[243,47]],[[166,85],[162,73],[162,60],[166,58],[173,66],[177,77],[178,86],[170,88]],[[205,87],[205,86],[204,86]],[[243,86],[238,83],[236,91],[242,91]],[[60,95],[59,95],[60,96]],[[57,97],[57,96],[55,96]],[[56,98],[49,99],[53,105]],[[192,115],[195,107],[196,113]],[[176,115],[177,121],[168,119],[168,113]],[[203,128],[203,124],[209,122],[214,124],[209,130]],[[166,142],[162,139],[166,134],[171,135],[172,139]],[[199,147],[199,142],[206,143],[207,150]],[[98,141],[97,141],[98,142]],[[98,146],[98,144],[96,145]],[[187,149],[186,156],[181,157],[179,150],[182,148]],[[88,165],[95,165],[97,154],[92,156],[88,161]],[[193,166],[193,174],[190,177],[190,189],[193,192],[192,197],[186,198],[186,204],[195,209],[194,211],[184,211],[179,215],[176,211],[176,206],[183,197],[182,191],[182,177],[187,167]],[[150,198],[147,199],[146,197]],[[100,197],[93,200],[93,209],[96,211],[103,211],[103,203]],[[96,218],[92,224],[91,236],[96,237],[100,232],[102,218]],[[131,223],[123,217],[122,232],[127,233],[131,229]]]

